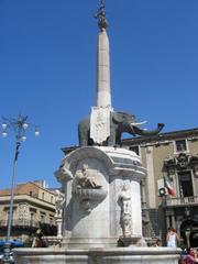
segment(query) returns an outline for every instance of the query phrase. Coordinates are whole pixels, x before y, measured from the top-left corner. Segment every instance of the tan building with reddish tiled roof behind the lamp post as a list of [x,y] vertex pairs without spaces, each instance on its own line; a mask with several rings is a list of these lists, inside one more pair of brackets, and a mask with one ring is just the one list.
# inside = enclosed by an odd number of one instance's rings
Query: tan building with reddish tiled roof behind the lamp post
[[[56,235],[55,198],[53,190],[43,182],[25,183],[16,186],[13,200],[11,238],[31,240],[37,229],[45,235]],[[0,240],[7,237],[10,208],[10,190],[0,190]]]

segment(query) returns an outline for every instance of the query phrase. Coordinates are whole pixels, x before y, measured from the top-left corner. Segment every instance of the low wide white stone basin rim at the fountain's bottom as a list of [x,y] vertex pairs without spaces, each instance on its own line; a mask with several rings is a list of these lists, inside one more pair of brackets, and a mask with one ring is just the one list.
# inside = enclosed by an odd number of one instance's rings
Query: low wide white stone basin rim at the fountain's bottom
[[178,264],[179,249],[15,249],[15,264]]

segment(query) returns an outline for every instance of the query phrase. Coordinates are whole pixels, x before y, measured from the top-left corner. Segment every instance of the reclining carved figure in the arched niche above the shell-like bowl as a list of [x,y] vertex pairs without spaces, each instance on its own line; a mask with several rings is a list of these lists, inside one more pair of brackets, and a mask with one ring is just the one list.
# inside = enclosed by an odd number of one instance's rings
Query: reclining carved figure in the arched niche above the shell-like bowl
[[98,175],[91,174],[88,169],[88,165],[84,164],[81,170],[77,170],[75,179],[76,179],[76,187],[77,188],[101,188]]

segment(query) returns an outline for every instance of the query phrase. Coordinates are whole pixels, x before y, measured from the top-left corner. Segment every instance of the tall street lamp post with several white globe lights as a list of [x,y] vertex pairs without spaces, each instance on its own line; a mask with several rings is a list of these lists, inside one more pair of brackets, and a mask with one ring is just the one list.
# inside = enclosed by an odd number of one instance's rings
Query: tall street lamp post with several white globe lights
[[38,135],[38,129],[36,125],[28,122],[28,116],[23,117],[19,114],[18,119],[7,119],[3,118],[2,122],[2,136],[7,138],[8,130],[12,129],[15,134],[15,150],[14,150],[14,158],[13,158],[13,172],[11,178],[11,197],[10,197],[10,206],[9,206],[9,218],[8,218],[8,230],[7,230],[7,243],[4,246],[4,255],[3,262],[4,263],[13,263],[11,258],[11,244],[10,244],[10,234],[12,228],[12,220],[13,220],[13,200],[14,200],[14,187],[15,187],[15,177],[16,177],[16,167],[18,167],[18,157],[20,154],[20,146],[23,141],[26,140],[26,130],[29,128],[34,128],[35,135]]

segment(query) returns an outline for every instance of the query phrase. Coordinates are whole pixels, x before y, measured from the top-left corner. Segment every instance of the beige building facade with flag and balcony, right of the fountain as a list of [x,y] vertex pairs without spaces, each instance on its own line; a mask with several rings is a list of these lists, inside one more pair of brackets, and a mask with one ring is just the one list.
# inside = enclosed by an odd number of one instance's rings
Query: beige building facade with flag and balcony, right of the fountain
[[160,237],[165,244],[167,228],[174,227],[184,246],[198,246],[198,129],[128,139],[122,147],[140,155],[147,169],[144,237]]

